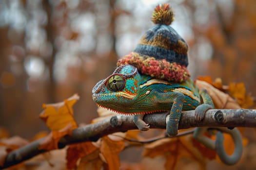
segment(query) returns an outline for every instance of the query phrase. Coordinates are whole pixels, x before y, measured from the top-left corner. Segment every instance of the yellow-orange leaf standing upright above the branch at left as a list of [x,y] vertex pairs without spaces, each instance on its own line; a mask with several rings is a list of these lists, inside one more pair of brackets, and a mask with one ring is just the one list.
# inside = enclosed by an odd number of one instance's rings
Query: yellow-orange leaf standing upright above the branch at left
[[44,110],[40,118],[46,122],[48,128],[52,131],[58,131],[71,123],[72,129],[78,128],[74,119],[72,106],[79,100],[78,94],[64,100],[64,102],[54,104],[43,104]]

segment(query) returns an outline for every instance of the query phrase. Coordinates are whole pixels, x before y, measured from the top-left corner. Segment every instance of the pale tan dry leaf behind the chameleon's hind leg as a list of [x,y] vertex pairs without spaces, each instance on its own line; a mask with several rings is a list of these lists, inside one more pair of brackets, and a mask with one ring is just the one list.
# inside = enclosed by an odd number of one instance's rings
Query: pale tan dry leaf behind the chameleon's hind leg
[[217,109],[239,109],[239,104],[228,94],[218,90],[213,85],[201,80],[196,80],[198,88],[205,88],[211,96]]

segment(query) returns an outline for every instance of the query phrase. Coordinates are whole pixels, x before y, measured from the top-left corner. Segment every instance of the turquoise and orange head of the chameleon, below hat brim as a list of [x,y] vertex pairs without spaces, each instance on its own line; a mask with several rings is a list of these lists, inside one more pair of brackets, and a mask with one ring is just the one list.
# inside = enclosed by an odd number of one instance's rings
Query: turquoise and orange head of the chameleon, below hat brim
[[136,98],[139,90],[140,74],[132,65],[122,65],[113,74],[99,81],[93,88],[93,100],[97,105],[119,113]]

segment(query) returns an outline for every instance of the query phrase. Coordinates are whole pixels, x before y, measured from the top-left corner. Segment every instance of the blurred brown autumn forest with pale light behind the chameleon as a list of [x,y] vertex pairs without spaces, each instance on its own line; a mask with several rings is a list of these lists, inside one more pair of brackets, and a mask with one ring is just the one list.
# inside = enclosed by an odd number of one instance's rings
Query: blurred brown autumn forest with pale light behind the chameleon
[[78,123],[98,117],[91,90],[170,3],[189,44],[192,78],[244,82],[256,96],[256,0],[0,0],[0,127],[31,138],[47,130],[42,103],[74,93]]

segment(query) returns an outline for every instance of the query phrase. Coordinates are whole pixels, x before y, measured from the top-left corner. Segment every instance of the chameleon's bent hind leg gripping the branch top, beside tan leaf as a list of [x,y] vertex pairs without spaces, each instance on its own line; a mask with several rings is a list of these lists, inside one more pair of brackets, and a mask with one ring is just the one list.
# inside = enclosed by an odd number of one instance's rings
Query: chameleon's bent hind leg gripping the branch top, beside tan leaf
[[201,88],[199,94],[203,99],[203,103],[197,106],[195,117],[197,120],[202,120],[207,110],[214,109],[214,103],[206,89]]

